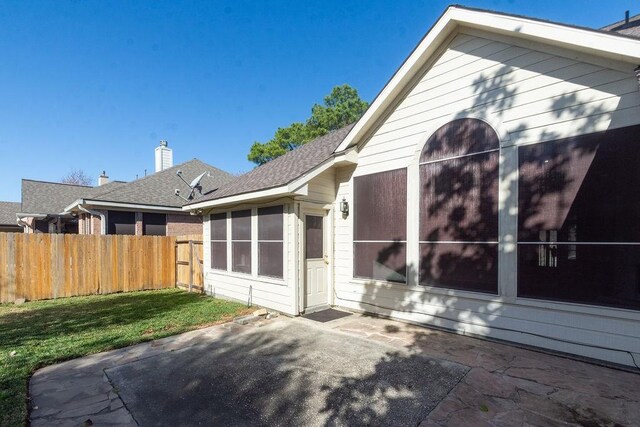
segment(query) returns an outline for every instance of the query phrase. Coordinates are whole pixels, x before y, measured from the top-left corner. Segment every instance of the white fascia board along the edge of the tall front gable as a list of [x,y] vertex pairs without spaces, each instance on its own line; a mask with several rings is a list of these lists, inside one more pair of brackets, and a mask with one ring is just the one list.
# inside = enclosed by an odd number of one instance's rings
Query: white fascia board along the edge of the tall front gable
[[640,63],[640,40],[524,17],[449,7],[355,124],[336,152],[361,142],[441,43],[460,27],[534,40],[630,64]]

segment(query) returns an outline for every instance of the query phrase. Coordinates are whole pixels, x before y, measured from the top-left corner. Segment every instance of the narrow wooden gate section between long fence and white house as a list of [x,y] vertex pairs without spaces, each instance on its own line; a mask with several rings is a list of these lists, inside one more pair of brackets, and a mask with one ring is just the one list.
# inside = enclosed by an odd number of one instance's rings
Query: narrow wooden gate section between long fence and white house
[[202,235],[189,234],[176,240],[176,286],[204,292]]

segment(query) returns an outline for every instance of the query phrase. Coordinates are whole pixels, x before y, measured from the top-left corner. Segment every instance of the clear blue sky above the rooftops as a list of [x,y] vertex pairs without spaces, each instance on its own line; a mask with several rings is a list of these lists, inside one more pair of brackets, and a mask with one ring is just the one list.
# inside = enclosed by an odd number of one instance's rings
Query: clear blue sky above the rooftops
[[[169,141],[238,173],[254,141],[348,83],[371,101],[444,1],[0,2],[0,200],[72,169],[132,180]],[[589,27],[636,1],[468,1]],[[94,180],[95,183],[95,180]]]

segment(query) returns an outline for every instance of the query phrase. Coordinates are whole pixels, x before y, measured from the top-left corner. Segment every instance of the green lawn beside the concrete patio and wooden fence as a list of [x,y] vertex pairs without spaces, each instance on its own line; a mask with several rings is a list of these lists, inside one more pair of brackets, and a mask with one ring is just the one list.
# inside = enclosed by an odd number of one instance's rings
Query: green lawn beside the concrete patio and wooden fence
[[249,311],[177,289],[0,305],[0,426],[26,423],[27,386],[38,368]]

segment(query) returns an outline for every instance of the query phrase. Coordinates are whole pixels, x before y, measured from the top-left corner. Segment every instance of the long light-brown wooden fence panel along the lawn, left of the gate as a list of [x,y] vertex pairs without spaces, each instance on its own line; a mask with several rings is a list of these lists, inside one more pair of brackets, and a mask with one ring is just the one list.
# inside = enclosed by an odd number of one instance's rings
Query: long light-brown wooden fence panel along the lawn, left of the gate
[[0,302],[176,285],[176,237],[0,233]]

